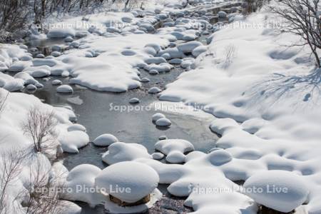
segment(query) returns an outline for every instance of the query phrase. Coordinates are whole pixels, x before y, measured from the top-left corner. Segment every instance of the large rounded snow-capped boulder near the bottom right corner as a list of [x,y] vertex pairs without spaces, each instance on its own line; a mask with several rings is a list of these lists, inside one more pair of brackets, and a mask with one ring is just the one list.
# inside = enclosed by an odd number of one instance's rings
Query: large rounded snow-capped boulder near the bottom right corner
[[257,203],[282,213],[305,203],[309,194],[305,180],[285,170],[258,172],[245,181],[244,190]]

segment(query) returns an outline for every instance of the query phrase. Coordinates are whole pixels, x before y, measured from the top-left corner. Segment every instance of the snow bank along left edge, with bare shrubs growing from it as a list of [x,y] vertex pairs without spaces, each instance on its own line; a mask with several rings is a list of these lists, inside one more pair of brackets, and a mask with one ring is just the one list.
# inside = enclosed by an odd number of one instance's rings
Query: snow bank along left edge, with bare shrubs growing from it
[[[22,74],[21,76],[28,77]],[[41,185],[46,185],[49,179],[60,177],[57,169],[61,167],[55,164],[56,166],[51,168],[51,162],[46,156],[42,153],[34,153],[34,143],[31,136],[27,136],[21,130],[21,123],[26,120],[29,109],[36,106],[39,108],[39,111],[54,111],[54,118],[56,118],[58,122],[56,132],[59,137],[67,131],[68,126],[71,126],[72,123],[69,121],[70,110],[66,108],[54,108],[41,103],[35,96],[24,93],[9,93],[0,88],[1,101],[3,101],[5,97],[6,102],[4,103],[4,108],[0,116],[1,153],[14,152],[16,156],[26,156],[19,167],[21,168],[21,172],[17,172],[14,180],[10,183],[6,195],[9,200],[9,207],[12,208],[12,210],[8,210],[7,213],[16,213],[16,210],[21,208],[21,203],[23,202],[23,198],[18,196],[21,196],[21,193],[28,194],[27,190],[30,190],[31,184],[35,182],[34,180],[40,177]],[[47,155],[56,156],[58,148],[59,142],[53,141],[50,148],[46,149]],[[10,160],[11,159],[8,159],[8,161]],[[0,164],[0,173],[2,173],[2,170],[3,163]],[[63,203],[65,202],[61,202],[61,204]],[[68,204],[68,208],[63,208],[66,213],[79,213],[81,210],[81,208],[73,203],[66,202],[66,204]]]

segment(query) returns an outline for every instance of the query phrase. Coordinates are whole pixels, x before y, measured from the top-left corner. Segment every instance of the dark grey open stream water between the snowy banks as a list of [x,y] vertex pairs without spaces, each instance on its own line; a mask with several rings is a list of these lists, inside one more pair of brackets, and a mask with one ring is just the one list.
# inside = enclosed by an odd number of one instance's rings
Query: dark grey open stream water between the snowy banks
[[[207,36],[201,36],[199,41],[205,44]],[[63,40],[33,41],[29,47],[63,45]],[[193,115],[182,115],[180,113],[165,113],[172,122],[170,128],[156,127],[151,118],[154,109],[146,108],[151,103],[158,101],[155,94],[149,94],[148,88],[158,86],[164,89],[165,85],[175,81],[180,73],[185,72],[182,68],[176,67],[167,73],[160,73],[151,76],[147,71],[141,71],[141,78],[147,77],[151,81],[142,83],[142,87],[126,93],[107,93],[93,91],[82,86],[72,85],[73,94],[56,93],[56,86],[51,85],[51,80],[60,79],[68,84],[69,78],[51,76],[50,78],[38,79],[44,84],[44,88],[37,90],[34,95],[44,103],[52,106],[71,106],[78,116],[78,123],[87,128],[87,133],[93,141],[94,138],[103,134],[111,133],[120,141],[126,143],[141,143],[148,149],[149,153],[154,152],[154,145],[159,136],[168,138],[181,138],[193,143],[195,150],[207,152],[215,147],[217,136],[210,131],[208,126],[213,121],[213,116],[198,117]],[[25,91],[29,93],[28,91]],[[140,103],[134,106],[136,111],[116,111],[116,106],[131,106],[128,101],[139,98]],[[113,106],[114,108],[111,108]],[[64,154],[61,157],[63,165],[71,170],[76,165],[89,163],[105,168],[107,165],[101,160],[101,154],[108,148],[96,147],[92,143],[81,148],[78,154]],[[191,210],[183,206],[184,198],[175,198],[167,192],[167,185],[159,185],[163,198],[147,213],[189,213]],[[82,213],[106,213],[102,207],[90,208],[86,203],[78,203],[83,208]]]

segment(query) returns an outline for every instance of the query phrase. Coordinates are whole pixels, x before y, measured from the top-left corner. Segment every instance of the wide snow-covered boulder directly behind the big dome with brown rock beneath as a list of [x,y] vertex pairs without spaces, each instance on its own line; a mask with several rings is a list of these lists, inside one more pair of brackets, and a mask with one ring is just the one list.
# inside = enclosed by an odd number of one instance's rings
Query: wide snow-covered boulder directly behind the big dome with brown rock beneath
[[151,158],[151,155],[141,144],[116,142],[108,147],[108,151],[103,153],[102,158],[105,163],[111,165],[122,161],[133,161],[137,158]]

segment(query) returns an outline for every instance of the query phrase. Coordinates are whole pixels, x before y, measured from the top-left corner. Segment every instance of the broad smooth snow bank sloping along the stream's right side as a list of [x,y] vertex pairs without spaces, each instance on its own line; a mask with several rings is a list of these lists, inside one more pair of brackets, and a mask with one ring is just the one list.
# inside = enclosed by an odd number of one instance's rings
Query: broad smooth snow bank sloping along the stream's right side
[[[275,17],[260,12],[248,16],[243,24],[264,26],[270,19]],[[215,32],[206,52],[196,58],[195,69],[182,73],[161,92],[161,100],[201,106],[217,116],[210,129],[222,135],[216,143],[218,148],[210,153],[185,158],[188,161],[182,166],[183,175],[170,180],[174,181],[170,193],[189,195],[185,204],[192,206],[195,213],[237,213],[241,209],[255,213],[253,200],[282,212],[306,203],[300,208],[307,213],[320,213],[320,84],[306,81],[320,76],[320,71],[315,71],[307,46],[287,47],[300,43],[296,36],[239,24],[235,22]],[[148,164],[159,168],[158,172],[167,167],[151,161]],[[278,171],[274,175],[268,170]],[[297,174],[293,175],[293,183],[285,171]],[[263,183],[288,184],[293,192],[272,197],[248,194],[249,197],[229,191],[218,194],[220,199],[214,194],[188,193],[188,183],[224,187],[228,180],[248,180],[259,173],[263,176],[257,178]],[[255,177],[253,183],[263,185]],[[160,179],[165,180],[161,175]],[[294,187],[294,183],[300,186]],[[307,193],[309,197],[305,198]],[[228,198],[240,203],[228,205]],[[290,200],[293,204],[287,203]]]

